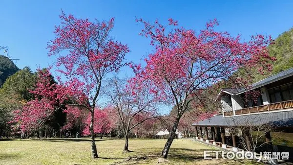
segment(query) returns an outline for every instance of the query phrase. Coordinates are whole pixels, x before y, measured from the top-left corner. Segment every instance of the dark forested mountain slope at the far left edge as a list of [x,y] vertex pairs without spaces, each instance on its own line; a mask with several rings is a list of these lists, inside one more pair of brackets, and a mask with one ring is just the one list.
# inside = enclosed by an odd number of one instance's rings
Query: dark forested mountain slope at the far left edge
[[8,57],[0,55],[0,87],[8,76],[19,71],[19,68]]

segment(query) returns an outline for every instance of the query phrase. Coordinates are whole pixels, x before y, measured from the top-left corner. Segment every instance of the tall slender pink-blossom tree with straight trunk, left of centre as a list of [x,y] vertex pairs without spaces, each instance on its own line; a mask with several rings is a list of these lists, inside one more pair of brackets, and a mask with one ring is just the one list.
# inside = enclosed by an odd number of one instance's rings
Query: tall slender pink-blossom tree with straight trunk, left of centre
[[98,158],[94,114],[102,82],[108,73],[125,65],[123,61],[129,50],[109,36],[113,18],[108,22],[90,22],[73,15],[66,16],[64,12],[60,18],[61,25],[55,27],[56,38],[48,44],[49,56],[57,56],[56,67],[62,74],[63,85],[75,94],[72,105],[83,106],[91,114],[92,158]]

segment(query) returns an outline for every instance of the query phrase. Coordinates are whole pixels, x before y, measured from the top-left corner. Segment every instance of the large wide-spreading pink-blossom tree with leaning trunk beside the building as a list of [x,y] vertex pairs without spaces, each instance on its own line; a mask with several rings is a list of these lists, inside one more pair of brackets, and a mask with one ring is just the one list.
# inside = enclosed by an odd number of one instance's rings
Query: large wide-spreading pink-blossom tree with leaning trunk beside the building
[[273,59],[267,51],[270,38],[263,35],[251,36],[250,41],[243,42],[240,36],[215,31],[216,20],[207,23],[199,33],[183,27],[168,32],[171,26],[177,25],[172,19],[166,26],[158,21],[154,24],[142,19],[137,21],[144,25],[140,35],[151,39],[154,52],[145,59],[146,67],[133,66],[137,73],[134,81],[142,78],[149,81],[154,86],[152,91],[176,106],[177,115],[162,151],[163,158],[167,158],[180,118],[188,105],[193,101],[208,105],[207,90],[213,84],[229,80],[243,67],[256,68],[259,72],[272,69],[268,61]]

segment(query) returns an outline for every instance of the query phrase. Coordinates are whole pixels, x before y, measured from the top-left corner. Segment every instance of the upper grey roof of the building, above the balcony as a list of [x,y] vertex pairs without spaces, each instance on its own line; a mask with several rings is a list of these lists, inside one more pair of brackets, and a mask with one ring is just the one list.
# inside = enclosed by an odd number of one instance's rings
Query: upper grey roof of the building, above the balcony
[[[277,74],[271,75],[271,76],[269,76],[269,77],[267,77],[267,78],[265,78],[263,80],[260,80],[260,81],[258,81],[256,83],[253,83],[249,90],[265,86],[267,84],[270,84],[272,82],[281,80],[283,78],[287,78],[289,76],[293,76],[293,68],[290,68],[290,69],[288,69],[286,71],[281,71],[281,72],[279,72]],[[242,94],[242,93],[244,93],[246,91],[248,91],[248,89],[246,89],[246,88],[223,88],[221,90],[221,92],[217,95],[216,100],[218,100],[220,98],[220,96],[222,96],[225,93],[230,94],[230,95],[238,95],[238,94]]]

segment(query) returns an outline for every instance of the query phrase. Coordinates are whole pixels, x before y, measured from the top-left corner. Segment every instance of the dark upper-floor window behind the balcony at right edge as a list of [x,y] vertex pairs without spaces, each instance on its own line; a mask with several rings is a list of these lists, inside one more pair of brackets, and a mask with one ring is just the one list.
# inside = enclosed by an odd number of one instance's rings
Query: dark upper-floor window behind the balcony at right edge
[[269,90],[271,103],[293,99],[293,84],[286,84]]

